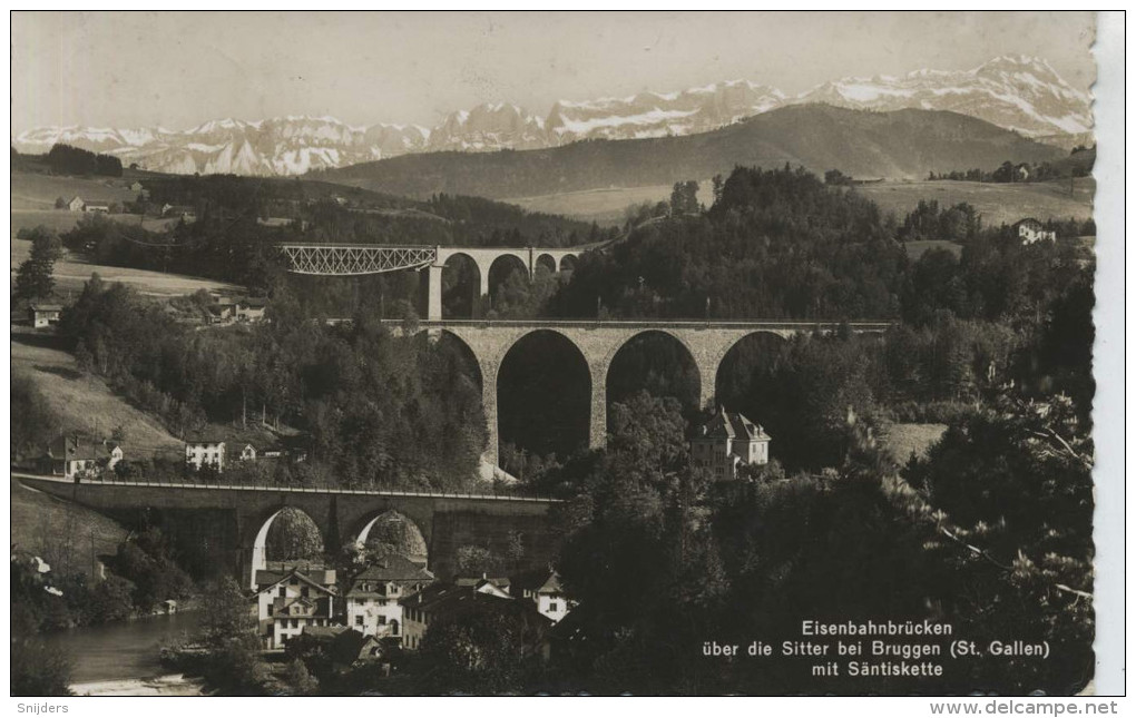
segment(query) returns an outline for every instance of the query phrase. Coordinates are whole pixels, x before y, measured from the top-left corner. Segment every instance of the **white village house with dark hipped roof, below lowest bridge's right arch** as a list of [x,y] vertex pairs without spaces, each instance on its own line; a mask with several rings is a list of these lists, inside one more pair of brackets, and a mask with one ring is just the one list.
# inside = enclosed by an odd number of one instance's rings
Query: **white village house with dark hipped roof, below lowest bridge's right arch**
[[402,606],[400,599],[434,583],[434,574],[410,559],[391,553],[351,579],[343,596],[346,623],[364,635],[402,641]]

